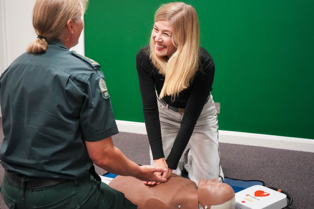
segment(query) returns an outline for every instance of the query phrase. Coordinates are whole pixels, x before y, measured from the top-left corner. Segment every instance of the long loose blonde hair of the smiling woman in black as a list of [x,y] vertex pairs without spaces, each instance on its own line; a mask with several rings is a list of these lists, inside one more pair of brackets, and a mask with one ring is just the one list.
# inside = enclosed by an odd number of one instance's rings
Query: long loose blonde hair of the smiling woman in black
[[186,89],[198,69],[199,26],[195,9],[183,2],[163,4],[155,13],[154,21],[169,20],[172,25],[172,43],[176,51],[167,60],[155,54],[154,40],[150,39],[149,57],[165,76],[160,98],[171,96],[174,101]]

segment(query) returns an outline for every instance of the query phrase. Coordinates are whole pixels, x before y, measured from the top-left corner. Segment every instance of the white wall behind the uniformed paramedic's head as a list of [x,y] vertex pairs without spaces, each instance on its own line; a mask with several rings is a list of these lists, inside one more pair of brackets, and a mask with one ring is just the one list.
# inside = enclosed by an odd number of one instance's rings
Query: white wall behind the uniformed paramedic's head
[[[37,37],[32,25],[34,3],[35,0],[0,0],[0,73]],[[71,50],[84,55],[84,30],[79,44]]]

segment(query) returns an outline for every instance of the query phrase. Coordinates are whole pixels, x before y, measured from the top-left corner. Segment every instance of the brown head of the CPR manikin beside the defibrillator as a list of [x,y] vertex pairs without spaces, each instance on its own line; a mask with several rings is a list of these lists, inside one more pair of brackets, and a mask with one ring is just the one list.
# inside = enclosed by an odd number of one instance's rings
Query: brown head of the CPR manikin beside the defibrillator
[[230,185],[213,178],[199,181],[198,202],[204,209],[234,209],[236,199]]

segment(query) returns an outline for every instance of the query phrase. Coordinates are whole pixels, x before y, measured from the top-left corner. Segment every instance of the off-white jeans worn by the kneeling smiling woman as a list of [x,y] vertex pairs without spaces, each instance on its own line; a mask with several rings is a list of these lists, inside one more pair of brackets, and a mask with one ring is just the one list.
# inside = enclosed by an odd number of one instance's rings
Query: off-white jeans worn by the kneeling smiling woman
[[[184,113],[175,112],[168,108],[157,97],[161,137],[165,158],[167,159],[172,145],[180,129]],[[183,166],[189,173],[189,178],[198,185],[200,179],[211,180],[216,178],[224,180],[224,174],[220,166],[220,154],[218,145],[218,120],[212,95],[203,107],[201,115],[195,125],[189,140],[190,150],[185,154]],[[151,149],[150,164],[154,165]],[[172,171],[181,175],[181,169],[177,167]]]

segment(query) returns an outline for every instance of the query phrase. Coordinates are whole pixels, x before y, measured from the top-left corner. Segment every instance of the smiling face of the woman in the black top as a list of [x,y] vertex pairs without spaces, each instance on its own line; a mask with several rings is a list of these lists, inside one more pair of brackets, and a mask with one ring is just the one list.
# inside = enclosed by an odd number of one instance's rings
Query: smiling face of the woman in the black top
[[155,22],[151,39],[154,40],[155,54],[159,57],[169,57],[176,51],[172,43],[172,26],[169,20]]

